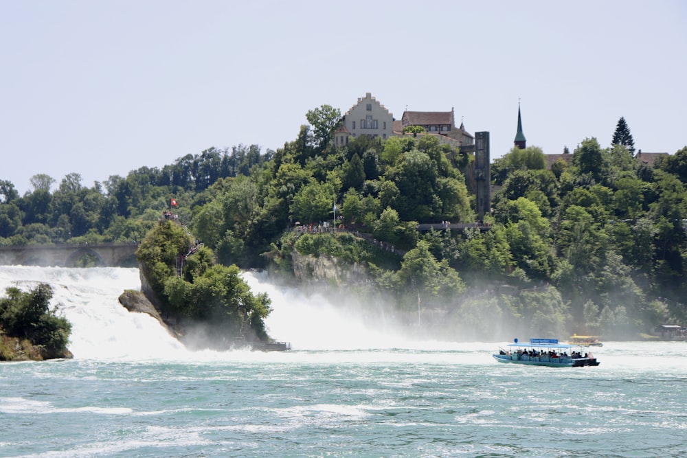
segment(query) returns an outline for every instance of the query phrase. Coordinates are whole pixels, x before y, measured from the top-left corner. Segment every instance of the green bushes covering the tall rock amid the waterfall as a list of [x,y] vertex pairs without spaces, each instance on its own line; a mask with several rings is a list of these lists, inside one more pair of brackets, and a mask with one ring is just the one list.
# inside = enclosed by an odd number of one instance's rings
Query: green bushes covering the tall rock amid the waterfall
[[271,308],[266,294],[254,295],[240,269],[214,262],[212,249],[193,240],[173,220],[160,220],[136,252],[144,275],[160,304],[188,337],[202,328],[216,347],[242,341],[270,341],[264,325]]

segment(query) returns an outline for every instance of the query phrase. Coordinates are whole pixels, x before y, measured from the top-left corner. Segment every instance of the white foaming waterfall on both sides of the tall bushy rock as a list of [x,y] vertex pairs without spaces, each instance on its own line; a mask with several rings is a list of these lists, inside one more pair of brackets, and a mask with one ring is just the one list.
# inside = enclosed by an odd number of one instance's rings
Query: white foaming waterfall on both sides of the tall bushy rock
[[[380,319],[379,313],[370,319],[365,307],[344,305],[343,297],[333,300],[304,295],[296,288],[275,286],[262,273],[245,272],[243,277],[254,293],[267,293],[271,299],[273,311],[266,320],[269,334],[278,341],[290,342],[295,351],[341,350],[350,354],[373,350],[381,357],[380,352],[385,350],[444,351],[455,350],[458,345],[411,339],[408,334],[412,333],[394,327],[390,324],[391,319]],[[52,286],[51,306],[71,322],[69,350],[78,359],[269,360],[294,357],[260,356],[260,352],[186,350],[153,317],[128,312],[119,303],[118,297],[124,290],[140,290],[137,268],[0,266],[2,296],[9,286],[29,290],[38,283]]]

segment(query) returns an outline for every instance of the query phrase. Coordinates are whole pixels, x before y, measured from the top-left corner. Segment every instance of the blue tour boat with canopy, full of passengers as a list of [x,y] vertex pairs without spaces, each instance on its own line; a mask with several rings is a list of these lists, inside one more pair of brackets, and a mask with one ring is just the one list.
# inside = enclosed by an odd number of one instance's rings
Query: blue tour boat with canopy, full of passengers
[[589,348],[559,343],[558,339],[530,339],[529,342],[518,342],[515,339],[506,347],[499,347],[499,352],[492,356],[499,363],[532,366],[583,367],[598,366],[600,363],[589,352]]

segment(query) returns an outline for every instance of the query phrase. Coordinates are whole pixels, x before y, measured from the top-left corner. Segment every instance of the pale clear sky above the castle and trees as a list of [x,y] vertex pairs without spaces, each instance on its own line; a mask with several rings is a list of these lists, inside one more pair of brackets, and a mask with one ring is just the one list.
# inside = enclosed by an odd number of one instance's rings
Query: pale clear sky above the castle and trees
[[687,2],[0,0],[0,180],[82,185],[207,148],[293,141],[365,93],[450,111],[502,157],[687,146]]

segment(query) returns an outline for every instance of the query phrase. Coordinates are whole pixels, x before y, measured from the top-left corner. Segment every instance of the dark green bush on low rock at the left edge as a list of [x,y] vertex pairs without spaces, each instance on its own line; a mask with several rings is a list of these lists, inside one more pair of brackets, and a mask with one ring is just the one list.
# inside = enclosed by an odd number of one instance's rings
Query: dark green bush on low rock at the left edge
[[71,358],[67,349],[71,323],[50,309],[52,289],[39,284],[16,287],[0,298],[0,360]]

